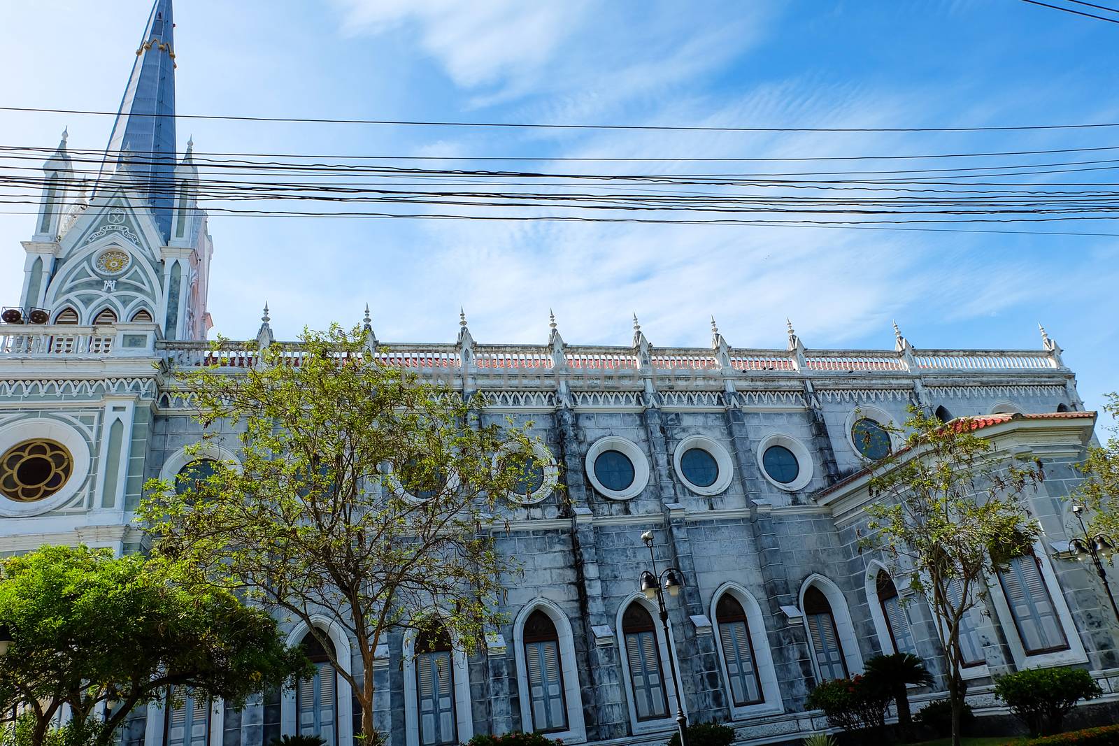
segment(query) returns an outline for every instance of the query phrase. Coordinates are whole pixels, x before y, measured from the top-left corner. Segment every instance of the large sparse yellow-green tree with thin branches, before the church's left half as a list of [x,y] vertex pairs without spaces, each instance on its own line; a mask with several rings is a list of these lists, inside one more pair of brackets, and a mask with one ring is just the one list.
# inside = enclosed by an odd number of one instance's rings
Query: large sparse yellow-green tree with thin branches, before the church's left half
[[[438,622],[472,649],[500,621],[509,567],[492,516],[542,465],[520,429],[482,422],[481,396],[382,365],[361,330],[304,331],[260,355],[252,368],[182,376],[204,429],[237,425],[241,462],[179,490],[148,485],[152,556],[304,622],[373,734],[374,657],[388,633]],[[349,635],[359,668],[335,658],[320,614]]]

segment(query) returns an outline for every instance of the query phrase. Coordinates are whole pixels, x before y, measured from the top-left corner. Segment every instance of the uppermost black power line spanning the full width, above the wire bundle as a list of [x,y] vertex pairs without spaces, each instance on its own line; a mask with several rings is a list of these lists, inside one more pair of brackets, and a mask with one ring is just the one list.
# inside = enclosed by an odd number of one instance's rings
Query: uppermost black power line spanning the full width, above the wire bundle
[[[1036,0],[1024,0],[1044,6]],[[1057,8],[1057,6],[1049,6]],[[1059,10],[1069,10],[1057,8]],[[1080,11],[1069,10],[1069,12]],[[1088,13],[1080,13],[1082,16]],[[1111,20],[1093,16],[1101,20]],[[1112,21],[1119,23],[1119,21]],[[103,112],[79,108],[44,108],[34,106],[0,106],[6,112],[31,112],[44,114],[88,114],[98,116],[116,116],[119,112]],[[458,128],[499,128],[499,129],[545,129],[545,130],[630,130],[650,132],[1009,132],[1025,130],[1084,130],[1099,128],[1119,128],[1119,122],[1093,124],[1022,124],[1007,126],[948,126],[948,128],[762,128],[762,126],[700,126],[700,125],[655,125],[655,124],[540,124],[530,122],[439,122],[414,120],[359,120],[327,119],[311,116],[243,116],[229,114],[144,114],[144,116],[173,117],[177,120],[224,120],[233,122],[279,122],[288,124],[373,124],[389,126],[458,126]]]

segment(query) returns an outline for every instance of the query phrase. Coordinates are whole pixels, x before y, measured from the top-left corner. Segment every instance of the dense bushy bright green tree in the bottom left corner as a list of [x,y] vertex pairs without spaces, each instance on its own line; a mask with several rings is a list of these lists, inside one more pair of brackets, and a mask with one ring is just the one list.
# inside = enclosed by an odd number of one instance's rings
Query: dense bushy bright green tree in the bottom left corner
[[105,712],[94,738],[104,744],[169,687],[236,705],[307,672],[266,612],[172,580],[139,555],[85,546],[0,563],[0,623],[15,639],[0,658],[0,710],[34,715],[31,746],[43,746],[64,705],[78,726]]

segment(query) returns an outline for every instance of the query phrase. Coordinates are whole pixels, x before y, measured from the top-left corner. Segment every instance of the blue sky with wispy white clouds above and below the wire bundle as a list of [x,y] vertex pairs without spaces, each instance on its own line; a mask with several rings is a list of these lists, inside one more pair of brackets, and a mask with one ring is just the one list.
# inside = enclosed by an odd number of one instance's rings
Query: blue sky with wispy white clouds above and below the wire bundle
[[[8,0],[9,105],[115,108],[149,0]],[[1016,0],[179,0],[180,113],[761,126],[1119,122],[1119,25]],[[109,117],[0,113],[4,144],[101,148]],[[673,133],[179,124],[180,149],[427,155],[801,157],[1113,145],[1115,131]],[[542,168],[546,163],[540,164]],[[596,167],[596,168],[602,168]],[[1106,173],[1106,172],[1104,172]],[[0,298],[20,239],[0,215]],[[1040,229],[1109,230],[1098,223]],[[213,217],[216,330],[356,323],[451,341],[1032,348],[1089,406],[1119,389],[1119,238],[777,227]]]

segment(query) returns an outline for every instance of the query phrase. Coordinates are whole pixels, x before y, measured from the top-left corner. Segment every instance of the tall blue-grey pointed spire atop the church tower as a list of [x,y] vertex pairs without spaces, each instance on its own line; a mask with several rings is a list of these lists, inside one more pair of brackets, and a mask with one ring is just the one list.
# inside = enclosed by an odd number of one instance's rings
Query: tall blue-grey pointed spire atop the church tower
[[[128,160],[129,176],[140,182],[167,242],[176,160],[175,22],[171,0],[156,0],[144,27],[121,107],[101,168],[102,188]],[[126,154],[125,154],[126,151]]]

